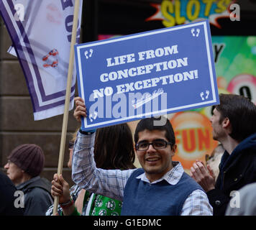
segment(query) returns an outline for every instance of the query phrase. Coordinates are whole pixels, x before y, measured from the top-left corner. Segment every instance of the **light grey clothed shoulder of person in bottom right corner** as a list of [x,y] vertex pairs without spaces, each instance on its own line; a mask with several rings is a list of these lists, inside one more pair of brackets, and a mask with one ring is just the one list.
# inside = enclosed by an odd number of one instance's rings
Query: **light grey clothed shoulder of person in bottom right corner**
[[233,194],[226,216],[256,216],[256,183],[245,185]]

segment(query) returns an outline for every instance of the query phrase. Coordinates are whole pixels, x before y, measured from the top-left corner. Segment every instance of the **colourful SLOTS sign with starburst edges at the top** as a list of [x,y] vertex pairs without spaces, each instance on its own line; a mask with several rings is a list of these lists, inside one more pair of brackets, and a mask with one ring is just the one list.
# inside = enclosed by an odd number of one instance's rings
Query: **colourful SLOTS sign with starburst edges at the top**
[[216,20],[220,17],[230,17],[229,5],[232,0],[163,0],[162,4],[151,4],[157,12],[147,21],[163,20],[165,27],[177,24],[187,24],[196,19],[209,19],[211,24],[219,27]]

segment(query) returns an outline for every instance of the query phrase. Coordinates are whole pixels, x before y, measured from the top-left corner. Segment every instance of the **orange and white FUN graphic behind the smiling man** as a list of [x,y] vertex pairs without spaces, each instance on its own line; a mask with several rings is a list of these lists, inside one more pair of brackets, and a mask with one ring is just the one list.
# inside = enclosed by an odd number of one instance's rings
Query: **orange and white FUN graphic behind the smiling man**
[[205,155],[211,155],[218,145],[212,138],[211,122],[203,111],[176,113],[170,123],[173,124],[178,146],[173,160],[181,162],[187,172],[196,160],[205,162]]

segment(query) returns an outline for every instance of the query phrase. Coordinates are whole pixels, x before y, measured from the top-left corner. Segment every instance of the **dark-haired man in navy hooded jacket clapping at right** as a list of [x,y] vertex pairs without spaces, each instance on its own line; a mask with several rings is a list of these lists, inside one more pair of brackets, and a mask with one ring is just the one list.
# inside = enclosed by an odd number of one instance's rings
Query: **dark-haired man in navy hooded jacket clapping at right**
[[211,168],[199,161],[191,167],[191,176],[206,191],[214,215],[224,216],[233,191],[256,182],[256,106],[238,95],[220,94],[219,99],[211,117],[213,138],[226,149],[219,176],[214,183]]

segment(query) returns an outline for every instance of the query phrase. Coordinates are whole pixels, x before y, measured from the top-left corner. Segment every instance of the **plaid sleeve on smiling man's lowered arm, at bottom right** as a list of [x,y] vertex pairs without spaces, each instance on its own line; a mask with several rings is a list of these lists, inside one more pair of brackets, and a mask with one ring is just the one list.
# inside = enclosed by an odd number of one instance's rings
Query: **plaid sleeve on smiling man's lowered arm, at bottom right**
[[183,204],[181,216],[212,216],[213,208],[211,207],[208,197],[204,191],[197,189]]

